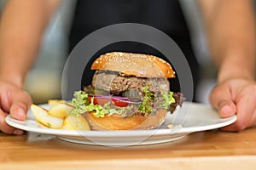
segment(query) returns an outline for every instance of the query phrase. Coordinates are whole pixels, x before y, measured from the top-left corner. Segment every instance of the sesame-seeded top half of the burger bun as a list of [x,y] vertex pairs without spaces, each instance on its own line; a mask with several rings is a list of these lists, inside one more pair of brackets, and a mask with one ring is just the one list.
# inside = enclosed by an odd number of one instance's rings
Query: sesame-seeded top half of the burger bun
[[165,60],[148,54],[112,52],[102,54],[91,70],[119,71],[127,76],[173,78],[175,72]]

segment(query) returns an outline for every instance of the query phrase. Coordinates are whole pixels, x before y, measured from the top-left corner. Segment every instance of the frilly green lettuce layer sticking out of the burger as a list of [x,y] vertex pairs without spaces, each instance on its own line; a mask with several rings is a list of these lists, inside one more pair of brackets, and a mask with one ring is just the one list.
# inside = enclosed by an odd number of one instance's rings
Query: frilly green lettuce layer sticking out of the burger
[[157,97],[148,90],[148,87],[143,88],[143,101],[140,105],[128,105],[126,107],[118,107],[113,105],[111,101],[104,105],[94,105],[94,98],[88,99],[88,94],[84,91],[76,91],[73,94],[72,105],[74,109],[70,111],[73,115],[82,115],[85,112],[95,111],[94,116],[104,117],[105,115],[112,116],[119,114],[122,116],[132,116],[134,113],[142,113],[148,115],[154,113],[157,109],[169,109],[172,103],[175,103],[173,92],[163,93],[161,95],[161,105],[155,105],[154,99]]

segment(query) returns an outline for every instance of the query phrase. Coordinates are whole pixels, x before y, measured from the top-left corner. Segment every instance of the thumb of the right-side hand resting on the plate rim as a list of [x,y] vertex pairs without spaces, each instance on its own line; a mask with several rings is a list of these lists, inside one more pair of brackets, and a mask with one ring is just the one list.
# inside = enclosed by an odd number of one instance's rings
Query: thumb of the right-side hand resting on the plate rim
[[210,95],[210,102],[213,108],[218,110],[221,117],[229,117],[236,114],[236,105],[229,88],[224,88],[224,86],[214,88]]

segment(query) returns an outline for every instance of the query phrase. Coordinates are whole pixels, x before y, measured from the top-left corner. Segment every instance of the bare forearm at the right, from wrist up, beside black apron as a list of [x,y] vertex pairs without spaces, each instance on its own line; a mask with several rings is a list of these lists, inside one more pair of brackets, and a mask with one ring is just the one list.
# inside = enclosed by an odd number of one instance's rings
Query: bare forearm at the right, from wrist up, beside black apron
[[[248,0],[201,0],[218,82],[255,77],[255,20]],[[209,6],[209,3],[212,3]]]

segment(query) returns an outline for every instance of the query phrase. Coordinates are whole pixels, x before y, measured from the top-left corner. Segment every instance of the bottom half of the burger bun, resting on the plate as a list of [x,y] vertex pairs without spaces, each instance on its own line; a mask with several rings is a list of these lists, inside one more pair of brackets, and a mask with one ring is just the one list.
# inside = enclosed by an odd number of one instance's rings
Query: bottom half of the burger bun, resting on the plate
[[85,119],[92,130],[135,130],[159,127],[166,119],[166,110],[159,110],[149,116],[93,116],[94,111],[84,113]]

